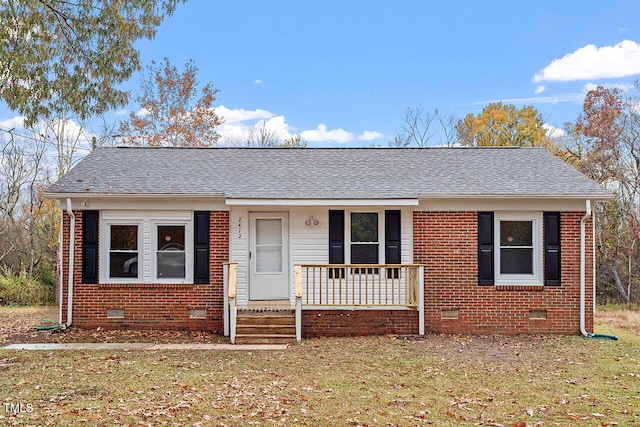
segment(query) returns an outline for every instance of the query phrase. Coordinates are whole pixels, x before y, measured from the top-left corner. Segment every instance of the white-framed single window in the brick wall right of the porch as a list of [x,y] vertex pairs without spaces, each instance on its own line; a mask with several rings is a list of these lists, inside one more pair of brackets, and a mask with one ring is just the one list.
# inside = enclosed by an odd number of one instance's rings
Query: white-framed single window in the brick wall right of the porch
[[496,284],[542,284],[541,213],[496,213]]

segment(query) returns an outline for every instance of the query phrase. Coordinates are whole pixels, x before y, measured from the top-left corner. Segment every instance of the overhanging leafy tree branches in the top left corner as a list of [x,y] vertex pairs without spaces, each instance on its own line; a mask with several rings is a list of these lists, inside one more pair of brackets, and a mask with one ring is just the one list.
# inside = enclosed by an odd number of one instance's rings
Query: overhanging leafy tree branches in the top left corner
[[118,89],[139,70],[135,43],[151,39],[184,0],[0,2],[0,99],[27,126],[61,111],[82,119],[126,105]]

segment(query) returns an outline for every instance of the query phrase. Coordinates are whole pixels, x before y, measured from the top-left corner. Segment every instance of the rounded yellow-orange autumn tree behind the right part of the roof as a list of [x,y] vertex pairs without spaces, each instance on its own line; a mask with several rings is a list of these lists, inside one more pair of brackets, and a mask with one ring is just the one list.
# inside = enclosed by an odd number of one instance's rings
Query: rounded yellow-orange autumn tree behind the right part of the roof
[[502,102],[487,105],[477,115],[467,114],[458,121],[456,130],[458,142],[468,147],[546,147],[550,142],[535,108],[518,109]]

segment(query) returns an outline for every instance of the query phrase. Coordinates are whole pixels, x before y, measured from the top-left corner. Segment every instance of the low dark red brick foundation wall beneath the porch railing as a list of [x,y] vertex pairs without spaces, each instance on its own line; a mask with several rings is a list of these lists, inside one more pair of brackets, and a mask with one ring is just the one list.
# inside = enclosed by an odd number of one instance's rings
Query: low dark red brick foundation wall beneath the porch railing
[[309,337],[409,335],[418,333],[415,310],[304,310],[302,334]]

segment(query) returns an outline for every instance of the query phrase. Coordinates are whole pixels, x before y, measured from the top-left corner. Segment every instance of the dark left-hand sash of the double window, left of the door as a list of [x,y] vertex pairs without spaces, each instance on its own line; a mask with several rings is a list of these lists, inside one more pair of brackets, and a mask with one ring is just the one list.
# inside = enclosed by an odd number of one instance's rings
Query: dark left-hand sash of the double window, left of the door
[[109,277],[138,277],[138,226],[111,225]]

